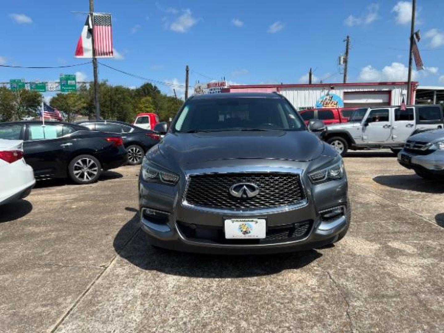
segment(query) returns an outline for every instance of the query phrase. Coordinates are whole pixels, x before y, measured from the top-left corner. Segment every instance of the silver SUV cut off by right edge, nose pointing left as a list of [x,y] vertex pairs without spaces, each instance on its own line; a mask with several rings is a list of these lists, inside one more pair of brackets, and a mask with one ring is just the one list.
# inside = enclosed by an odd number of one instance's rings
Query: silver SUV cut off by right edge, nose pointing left
[[412,135],[398,154],[398,162],[422,178],[444,180],[444,130]]

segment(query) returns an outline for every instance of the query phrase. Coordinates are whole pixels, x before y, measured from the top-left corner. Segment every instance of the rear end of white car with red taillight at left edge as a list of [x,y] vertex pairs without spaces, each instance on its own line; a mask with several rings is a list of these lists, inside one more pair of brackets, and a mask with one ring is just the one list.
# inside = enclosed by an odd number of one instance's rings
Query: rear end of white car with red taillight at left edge
[[23,141],[0,139],[0,205],[25,198],[35,184],[34,171],[23,159]]

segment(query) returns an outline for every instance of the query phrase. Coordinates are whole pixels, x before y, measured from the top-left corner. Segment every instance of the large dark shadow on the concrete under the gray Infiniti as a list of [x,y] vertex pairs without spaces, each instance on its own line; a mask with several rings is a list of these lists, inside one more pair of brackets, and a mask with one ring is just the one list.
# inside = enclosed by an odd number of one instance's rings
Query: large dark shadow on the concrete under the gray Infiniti
[[273,255],[190,254],[155,249],[139,227],[139,214],[128,221],[114,239],[115,251],[143,270],[202,278],[239,278],[277,274],[309,265],[320,258],[317,250]]

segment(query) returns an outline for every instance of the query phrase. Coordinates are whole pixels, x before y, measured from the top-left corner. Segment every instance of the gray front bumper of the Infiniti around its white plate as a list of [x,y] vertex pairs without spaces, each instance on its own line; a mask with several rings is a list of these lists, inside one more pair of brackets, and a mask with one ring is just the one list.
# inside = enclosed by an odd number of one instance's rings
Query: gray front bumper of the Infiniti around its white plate
[[[347,179],[330,181],[316,186],[304,178],[306,202],[301,206],[271,211],[220,212],[192,207],[182,202],[185,184],[166,186],[145,182],[139,178],[140,223],[151,245],[185,252],[211,254],[270,254],[307,250],[325,246],[337,240],[338,234],[349,225],[350,207],[347,201]],[[307,188],[307,185],[309,186]],[[343,214],[322,221],[321,212],[343,207]],[[145,213],[150,214],[145,214]],[[150,218],[158,214],[159,219]],[[308,223],[307,231],[298,238],[276,237],[255,241],[230,242],[223,237],[226,218],[266,218],[267,234]],[[190,236],[190,228],[200,230],[205,237]],[[284,232],[285,233],[285,232]]]

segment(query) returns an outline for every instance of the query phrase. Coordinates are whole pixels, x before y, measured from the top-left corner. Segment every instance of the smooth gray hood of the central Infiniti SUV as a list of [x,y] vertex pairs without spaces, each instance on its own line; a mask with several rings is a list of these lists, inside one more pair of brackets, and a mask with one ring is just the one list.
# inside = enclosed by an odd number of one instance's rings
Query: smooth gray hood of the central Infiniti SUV
[[309,131],[224,131],[170,133],[158,147],[166,159],[185,166],[227,159],[311,161],[321,155],[324,143]]

